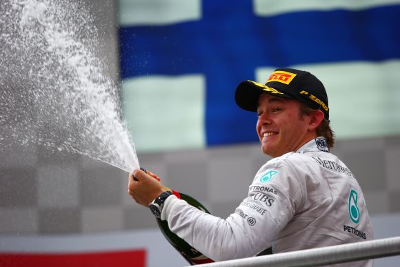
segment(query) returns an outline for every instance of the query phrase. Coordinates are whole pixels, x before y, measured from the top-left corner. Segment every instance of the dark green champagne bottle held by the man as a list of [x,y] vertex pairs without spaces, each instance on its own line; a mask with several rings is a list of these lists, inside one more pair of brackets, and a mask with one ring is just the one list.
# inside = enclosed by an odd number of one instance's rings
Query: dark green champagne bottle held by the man
[[[145,170],[143,168],[142,170],[145,171],[148,175],[150,175],[154,179],[160,181],[159,177],[157,177],[157,175],[154,175],[154,173]],[[207,212],[208,214],[210,214],[208,209],[193,197],[190,197],[189,195],[183,194],[181,192],[174,191],[166,186],[163,187],[163,190],[172,192],[172,194],[177,196],[179,199],[183,199],[186,202],[188,202],[189,205],[194,206],[195,208],[198,208],[199,210],[202,210],[203,212]],[[156,220],[161,230],[161,233],[163,233],[163,236],[166,237],[167,241],[183,256],[183,258],[185,258],[188,261],[190,265],[207,264],[210,262],[214,262],[212,259],[203,255],[203,253],[201,253],[199,250],[193,248],[188,243],[186,243],[185,240],[181,239],[180,237],[172,233],[172,231],[168,226],[167,221],[162,221],[157,217]]]

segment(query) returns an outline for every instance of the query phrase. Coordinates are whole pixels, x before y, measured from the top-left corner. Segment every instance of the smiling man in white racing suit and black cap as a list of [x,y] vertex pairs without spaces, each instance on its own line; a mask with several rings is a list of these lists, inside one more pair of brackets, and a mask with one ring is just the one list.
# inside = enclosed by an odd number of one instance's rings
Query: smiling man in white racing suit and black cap
[[[273,159],[259,169],[248,196],[228,218],[163,192],[141,170],[134,172],[137,179],[129,177],[130,195],[143,206],[161,199],[157,214],[170,230],[215,261],[372,239],[363,192],[330,153],[334,135],[321,81],[310,72],[281,68],[265,84],[239,83],[235,100],[257,112],[261,150]],[[347,266],[372,266],[372,260]]]

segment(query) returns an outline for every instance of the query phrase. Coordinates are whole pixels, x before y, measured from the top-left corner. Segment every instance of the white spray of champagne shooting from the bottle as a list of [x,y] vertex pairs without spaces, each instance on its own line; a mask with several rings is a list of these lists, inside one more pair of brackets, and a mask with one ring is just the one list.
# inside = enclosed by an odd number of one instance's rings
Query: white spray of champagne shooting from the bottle
[[0,145],[46,146],[131,172],[139,161],[86,4],[1,2]]

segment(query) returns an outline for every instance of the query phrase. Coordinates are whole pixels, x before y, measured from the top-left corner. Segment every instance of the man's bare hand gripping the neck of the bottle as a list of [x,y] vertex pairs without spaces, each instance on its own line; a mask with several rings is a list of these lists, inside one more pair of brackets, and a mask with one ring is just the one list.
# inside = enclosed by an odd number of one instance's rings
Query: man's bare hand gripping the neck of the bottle
[[128,177],[128,193],[137,204],[148,207],[164,191],[159,179],[148,175],[143,170],[137,169]]

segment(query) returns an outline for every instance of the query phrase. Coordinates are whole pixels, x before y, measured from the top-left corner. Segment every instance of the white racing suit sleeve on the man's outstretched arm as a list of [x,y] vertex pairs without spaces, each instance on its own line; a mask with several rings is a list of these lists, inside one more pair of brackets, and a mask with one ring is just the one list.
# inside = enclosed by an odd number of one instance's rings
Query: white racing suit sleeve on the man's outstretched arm
[[281,161],[261,167],[227,219],[194,208],[177,197],[166,199],[161,219],[173,233],[214,261],[252,257],[266,249],[288,224],[302,201],[302,188]]

